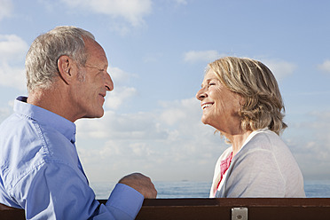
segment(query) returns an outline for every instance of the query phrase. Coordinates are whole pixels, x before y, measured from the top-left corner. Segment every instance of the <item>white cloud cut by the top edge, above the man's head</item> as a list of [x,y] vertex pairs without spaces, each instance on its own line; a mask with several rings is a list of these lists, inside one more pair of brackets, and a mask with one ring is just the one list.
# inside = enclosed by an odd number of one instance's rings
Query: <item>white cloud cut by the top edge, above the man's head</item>
[[114,19],[123,18],[131,26],[144,24],[144,17],[151,12],[151,0],[71,0],[63,1],[72,8],[106,14]]

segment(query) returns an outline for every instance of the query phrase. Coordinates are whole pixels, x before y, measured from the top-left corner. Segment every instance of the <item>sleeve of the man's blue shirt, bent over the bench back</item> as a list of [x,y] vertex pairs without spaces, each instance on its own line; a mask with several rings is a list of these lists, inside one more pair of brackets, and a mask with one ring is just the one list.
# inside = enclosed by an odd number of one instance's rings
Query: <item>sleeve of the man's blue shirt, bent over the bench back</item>
[[12,196],[27,219],[134,219],[144,197],[127,185],[116,185],[106,205],[95,200],[86,180],[63,163],[43,163],[20,179]]

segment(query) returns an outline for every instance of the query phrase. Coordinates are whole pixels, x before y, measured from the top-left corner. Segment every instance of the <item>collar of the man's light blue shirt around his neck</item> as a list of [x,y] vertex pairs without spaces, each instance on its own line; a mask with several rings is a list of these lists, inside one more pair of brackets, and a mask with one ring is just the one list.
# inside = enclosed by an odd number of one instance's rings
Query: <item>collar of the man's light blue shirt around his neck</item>
[[23,96],[16,98],[14,111],[18,114],[23,114],[36,122],[50,126],[55,130],[59,130],[61,134],[75,144],[74,122],[70,122],[66,118],[59,116],[59,114],[54,114],[42,107],[28,104],[27,97]]

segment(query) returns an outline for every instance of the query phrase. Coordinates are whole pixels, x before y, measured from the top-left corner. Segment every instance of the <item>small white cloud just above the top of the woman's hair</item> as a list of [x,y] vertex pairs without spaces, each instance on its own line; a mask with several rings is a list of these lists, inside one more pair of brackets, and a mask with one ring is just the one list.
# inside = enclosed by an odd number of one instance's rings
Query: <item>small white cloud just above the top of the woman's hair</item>
[[216,59],[219,59],[221,55],[214,50],[210,51],[188,51],[185,52],[184,59],[185,62],[212,62]]

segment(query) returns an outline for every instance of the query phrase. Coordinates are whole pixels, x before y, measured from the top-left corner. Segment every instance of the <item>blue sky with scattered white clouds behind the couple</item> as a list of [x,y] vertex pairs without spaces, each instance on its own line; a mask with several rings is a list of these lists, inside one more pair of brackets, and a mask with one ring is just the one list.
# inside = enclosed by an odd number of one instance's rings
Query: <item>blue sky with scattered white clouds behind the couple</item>
[[0,0],[0,121],[26,95],[24,58],[37,35],[83,27],[109,59],[114,91],[101,119],[79,120],[90,182],[135,171],[155,181],[211,181],[227,145],[194,98],[208,62],[258,59],[279,81],[282,138],[305,179],[330,179],[330,2],[306,0]]

